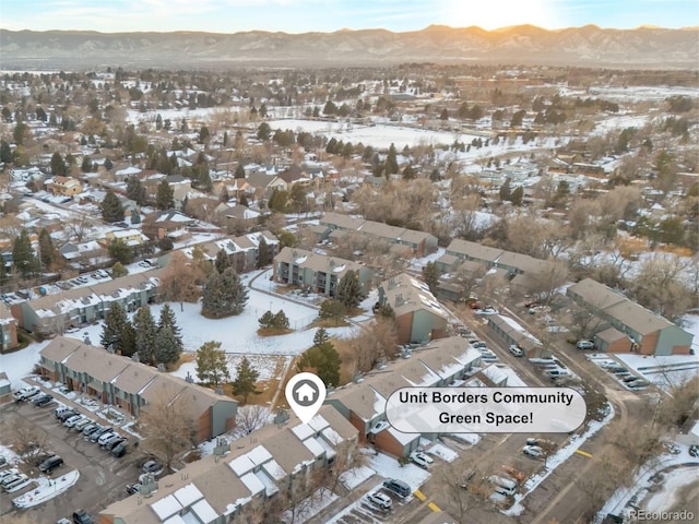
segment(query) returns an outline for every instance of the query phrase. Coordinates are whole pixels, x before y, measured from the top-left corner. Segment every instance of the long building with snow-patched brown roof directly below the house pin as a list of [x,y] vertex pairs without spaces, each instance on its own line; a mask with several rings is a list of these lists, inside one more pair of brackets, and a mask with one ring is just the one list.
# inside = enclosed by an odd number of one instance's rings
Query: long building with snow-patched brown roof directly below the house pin
[[[309,424],[268,425],[158,480],[157,490],[114,502],[100,524],[252,522],[262,508],[294,493],[310,475],[356,452],[357,431],[335,409],[322,406]],[[280,519],[281,521],[281,519]]]

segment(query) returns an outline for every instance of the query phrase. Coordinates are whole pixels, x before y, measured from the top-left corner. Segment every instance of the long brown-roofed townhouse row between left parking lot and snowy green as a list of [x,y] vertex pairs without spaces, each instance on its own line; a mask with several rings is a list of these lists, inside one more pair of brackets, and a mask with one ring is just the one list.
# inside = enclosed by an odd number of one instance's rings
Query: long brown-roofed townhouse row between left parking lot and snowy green
[[233,398],[82,341],[57,336],[39,355],[44,377],[132,416],[159,402],[175,403],[194,420],[197,442],[215,438],[235,424]]

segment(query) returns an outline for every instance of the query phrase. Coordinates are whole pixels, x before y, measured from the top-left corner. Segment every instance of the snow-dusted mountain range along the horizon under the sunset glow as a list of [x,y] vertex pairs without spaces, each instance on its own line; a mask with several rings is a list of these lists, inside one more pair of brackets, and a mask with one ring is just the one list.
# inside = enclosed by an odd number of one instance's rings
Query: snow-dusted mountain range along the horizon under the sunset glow
[[0,29],[2,69],[382,66],[401,62],[541,63],[605,68],[699,69],[699,29],[547,31],[532,25],[485,31],[334,33],[96,33]]

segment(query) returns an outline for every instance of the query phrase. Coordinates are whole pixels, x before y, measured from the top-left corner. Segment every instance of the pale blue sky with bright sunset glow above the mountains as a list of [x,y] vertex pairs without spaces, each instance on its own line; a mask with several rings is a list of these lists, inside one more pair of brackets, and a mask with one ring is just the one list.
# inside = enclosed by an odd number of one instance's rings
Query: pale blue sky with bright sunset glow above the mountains
[[281,31],[306,33],[431,24],[548,29],[595,24],[699,26],[697,0],[0,0],[5,29],[103,33]]

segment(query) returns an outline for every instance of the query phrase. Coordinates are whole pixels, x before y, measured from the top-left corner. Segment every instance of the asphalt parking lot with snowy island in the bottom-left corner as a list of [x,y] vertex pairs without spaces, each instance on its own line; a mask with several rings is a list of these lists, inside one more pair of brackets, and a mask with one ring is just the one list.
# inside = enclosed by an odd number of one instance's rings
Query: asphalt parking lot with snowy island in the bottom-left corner
[[[78,483],[67,492],[27,510],[13,508],[12,499],[31,492],[35,489],[33,484],[13,493],[1,492],[0,515],[22,511],[31,514],[32,522],[36,524],[55,524],[61,517],[70,517],[75,509],[82,508],[96,517],[99,510],[127,496],[127,484],[138,480],[139,467],[147,460],[142,452],[130,446],[129,453],[123,457],[111,456],[98,444],[85,440],[82,432],[66,428],[55,416],[56,407],[56,403],[36,407],[31,402],[1,406],[0,442],[10,446],[20,437],[36,436],[37,439],[46,442],[47,451],[59,455],[64,461],[64,464],[56,468],[49,477],[59,479],[76,469],[80,472]],[[105,424],[105,420],[94,419]],[[21,463],[14,467],[29,478],[40,476],[35,461],[29,461],[28,464]]]

